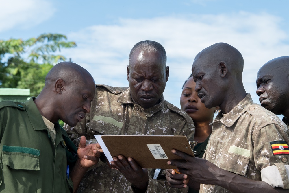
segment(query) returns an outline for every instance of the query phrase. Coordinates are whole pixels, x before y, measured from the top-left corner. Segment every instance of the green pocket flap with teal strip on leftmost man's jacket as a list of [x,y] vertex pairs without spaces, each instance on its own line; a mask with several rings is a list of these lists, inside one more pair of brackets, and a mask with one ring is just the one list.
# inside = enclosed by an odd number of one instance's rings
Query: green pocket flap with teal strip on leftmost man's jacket
[[3,146],[2,163],[15,170],[40,170],[40,150],[26,147]]

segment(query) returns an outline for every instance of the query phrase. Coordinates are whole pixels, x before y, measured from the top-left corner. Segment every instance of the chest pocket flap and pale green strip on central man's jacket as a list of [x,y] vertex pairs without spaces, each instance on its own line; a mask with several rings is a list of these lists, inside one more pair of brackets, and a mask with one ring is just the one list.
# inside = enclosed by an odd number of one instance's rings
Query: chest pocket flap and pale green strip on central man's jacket
[[121,133],[123,123],[115,120],[112,117],[95,115],[93,119],[88,124],[86,124],[86,127],[93,135],[117,135]]

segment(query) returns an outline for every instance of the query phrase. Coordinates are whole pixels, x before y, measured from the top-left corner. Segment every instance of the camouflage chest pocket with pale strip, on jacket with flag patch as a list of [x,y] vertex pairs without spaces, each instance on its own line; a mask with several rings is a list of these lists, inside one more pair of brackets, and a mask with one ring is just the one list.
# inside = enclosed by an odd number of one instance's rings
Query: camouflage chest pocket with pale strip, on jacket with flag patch
[[228,152],[223,152],[219,167],[229,172],[245,176],[247,174],[250,153],[250,150],[231,146]]

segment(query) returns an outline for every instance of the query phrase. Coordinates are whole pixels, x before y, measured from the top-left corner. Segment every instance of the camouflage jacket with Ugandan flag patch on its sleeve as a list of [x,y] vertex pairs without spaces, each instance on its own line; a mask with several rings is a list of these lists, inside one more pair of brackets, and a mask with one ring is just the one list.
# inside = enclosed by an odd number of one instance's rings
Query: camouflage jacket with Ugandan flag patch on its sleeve
[[[268,166],[282,166],[284,170],[279,172],[286,188],[289,182],[284,165],[288,165],[289,154],[274,155],[271,146],[279,141],[289,144],[288,128],[275,114],[253,103],[251,95],[247,94],[228,114],[223,116],[220,111],[217,115],[205,159],[252,180],[261,180],[260,171]],[[200,192],[230,191],[201,184]]]

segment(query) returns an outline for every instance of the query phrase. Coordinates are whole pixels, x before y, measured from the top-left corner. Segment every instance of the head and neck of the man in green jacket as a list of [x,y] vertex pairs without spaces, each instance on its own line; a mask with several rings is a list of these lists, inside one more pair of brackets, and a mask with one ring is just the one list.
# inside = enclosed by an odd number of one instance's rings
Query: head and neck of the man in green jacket
[[45,87],[34,103],[41,115],[55,123],[61,119],[70,126],[90,112],[95,82],[90,73],[72,62],[60,62],[45,77]]

